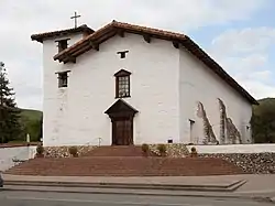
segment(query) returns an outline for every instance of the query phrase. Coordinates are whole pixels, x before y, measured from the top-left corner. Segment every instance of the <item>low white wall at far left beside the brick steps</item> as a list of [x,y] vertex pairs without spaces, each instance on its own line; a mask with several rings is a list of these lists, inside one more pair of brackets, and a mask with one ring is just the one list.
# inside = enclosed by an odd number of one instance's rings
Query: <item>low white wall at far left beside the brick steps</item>
[[0,148],[0,171],[9,170],[14,166],[13,160],[33,159],[36,147]]

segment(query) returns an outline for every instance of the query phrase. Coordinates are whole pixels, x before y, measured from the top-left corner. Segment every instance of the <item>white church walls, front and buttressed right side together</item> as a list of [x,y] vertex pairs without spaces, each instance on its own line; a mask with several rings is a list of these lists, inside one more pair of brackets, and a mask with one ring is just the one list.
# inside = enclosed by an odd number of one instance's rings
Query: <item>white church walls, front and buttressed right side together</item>
[[[66,39],[65,36],[64,39]],[[69,45],[82,35],[69,36]],[[44,145],[81,145],[112,143],[112,127],[105,111],[114,104],[114,74],[131,72],[131,97],[124,98],[139,112],[134,117],[133,141],[142,143],[200,142],[202,124],[197,121],[197,101],[205,106],[219,138],[221,98],[243,138],[252,107],[241,95],[216,76],[200,61],[172,42],[127,33],[100,44],[77,57],[76,64],[54,61],[56,41],[43,42],[44,66]],[[117,52],[129,51],[125,58]],[[68,87],[58,88],[56,72],[70,71]],[[189,119],[195,121],[193,131]],[[217,127],[216,127],[217,126]],[[193,134],[190,134],[193,133]],[[197,142],[196,142],[197,141]]]

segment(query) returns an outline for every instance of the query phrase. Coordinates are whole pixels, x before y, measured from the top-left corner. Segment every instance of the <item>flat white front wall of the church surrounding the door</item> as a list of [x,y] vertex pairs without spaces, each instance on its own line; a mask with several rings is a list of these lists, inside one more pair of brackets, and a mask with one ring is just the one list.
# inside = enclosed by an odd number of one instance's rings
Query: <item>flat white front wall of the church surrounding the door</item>
[[[179,52],[170,42],[141,35],[114,36],[76,64],[53,61],[53,42],[44,43],[44,145],[111,144],[111,121],[105,111],[117,101],[114,73],[131,75],[131,98],[139,110],[134,143],[179,142]],[[119,51],[129,51],[120,58]],[[57,71],[70,69],[68,87],[57,88]]]

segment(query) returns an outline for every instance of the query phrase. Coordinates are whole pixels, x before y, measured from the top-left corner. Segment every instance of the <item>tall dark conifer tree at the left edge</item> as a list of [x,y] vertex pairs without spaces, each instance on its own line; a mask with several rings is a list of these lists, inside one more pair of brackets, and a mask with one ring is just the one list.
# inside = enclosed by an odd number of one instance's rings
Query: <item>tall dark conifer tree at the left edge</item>
[[4,64],[0,62],[0,143],[15,140],[21,134],[20,109],[9,85]]

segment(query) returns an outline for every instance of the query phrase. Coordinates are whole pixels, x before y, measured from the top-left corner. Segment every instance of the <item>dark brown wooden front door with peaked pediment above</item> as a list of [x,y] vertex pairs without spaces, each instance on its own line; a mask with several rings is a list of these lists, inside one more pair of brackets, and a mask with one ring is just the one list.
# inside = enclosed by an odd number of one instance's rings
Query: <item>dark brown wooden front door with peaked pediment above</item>
[[116,101],[105,113],[112,122],[112,145],[131,145],[133,142],[133,118],[138,112],[124,100]]

